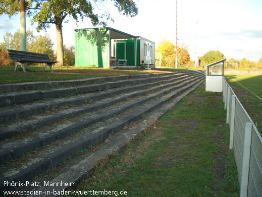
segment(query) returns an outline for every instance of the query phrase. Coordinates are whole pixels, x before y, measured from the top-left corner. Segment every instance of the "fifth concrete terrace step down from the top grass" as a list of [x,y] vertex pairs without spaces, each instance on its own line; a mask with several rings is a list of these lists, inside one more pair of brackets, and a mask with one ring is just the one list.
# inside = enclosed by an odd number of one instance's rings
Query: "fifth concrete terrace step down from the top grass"
[[[195,80],[195,77],[194,78],[189,77],[185,81],[178,80],[173,83],[164,84],[164,85],[150,88],[147,91],[142,91],[142,92],[139,91],[139,92],[136,92],[135,94],[136,96],[140,96],[140,97],[129,99],[129,101],[125,101],[121,103],[119,102],[121,100],[121,96],[120,96],[120,98],[113,99],[113,101],[117,101],[117,102],[115,103],[109,102],[109,104],[111,104],[110,107],[106,107],[103,110],[101,109],[100,111],[91,111],[88,113],[83,113],[83,115],[79,114],[79,116],[77,117],[70,117],[70,120],[67,119],[65,121],[59,121],[59,123],[55,123],[55,122],[58,122],[58,120],[55,120],[55,118],[61,117],[61,115],[54,114],[53,115],[54,117],[52,115],[51,116],[46,115],[48,120],[54,120],[54,121],[52,121],[51,123],[52,126],[45,126],[42,129],[40,128],[41,126],[43,126],[42,120],[46,117],[41,116],[42,118],[39,118],[41,121],[36,122],[35,124],[32,124],[32,121],[29,120],[26,123],[24,123],[24,127],[23,127],[24,129],[26,127],[29,128],[32,125],[35,128],[37,128],[38,126],[38,128],[40,129],[37,129],[34,132],[31,131],[29,133],[20,135],[19,138],[10,139],[8,141],[6,140],[1,141],[0,142],[0,145],[1,145],[1,149],[0,149],[1,163],[0,164],[3,164],[4,162],[8,161],[10,158],[17,159],[26,152],[33,151],[35,148],[39,148],[41,146],[47,145],[57,139],[64,138],[94,123],[97,123],[102,120],[106,120],[112,116],[118,115],[124,112],[125,110],[131,109],[134,106],[145,103],[151,99],[156,98],[159,95],[167,93],[168,91],[177,89],[179,87],[183,87],[184,85],[194,80]],[[177,83],[180,83],[180,84],[177,85]],[[156,92],[156,93],[153,93],[153,92]],[[134,93],[131,93],[131,94],[134,94]],[[143,94],[151,94],[151,95],[143,96]],[[112,99],[109,99],[109,100],[112,101]],[[103,104],[104,103],[102,103],[102,105]],[[71,108],[65,111],[67,113],[63,112],[62,116],[64,114],[70,114],[70,112],[73,112],[73,113],[75,112],[74,109],[71,109]],[[10,128],[12,128],[13,130],[10,132],[15,134],[14,132],[16,130],[19,130],[19,127],[20,127],[19,124],[11,125]]]

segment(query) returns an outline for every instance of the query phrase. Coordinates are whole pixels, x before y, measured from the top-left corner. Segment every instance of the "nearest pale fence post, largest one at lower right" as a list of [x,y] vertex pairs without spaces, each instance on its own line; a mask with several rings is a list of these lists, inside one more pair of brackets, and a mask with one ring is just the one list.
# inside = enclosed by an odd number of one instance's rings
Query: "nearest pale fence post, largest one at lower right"
[[241,173],[241,186],[240,197],[247,197],[248,194],[248,175],[249,175],[249,162],[250,162],[250,149],[251,149],[251,135],[252,135],[252,123],[246,123],[245,126],[245,138],[243,149],[243,163]]

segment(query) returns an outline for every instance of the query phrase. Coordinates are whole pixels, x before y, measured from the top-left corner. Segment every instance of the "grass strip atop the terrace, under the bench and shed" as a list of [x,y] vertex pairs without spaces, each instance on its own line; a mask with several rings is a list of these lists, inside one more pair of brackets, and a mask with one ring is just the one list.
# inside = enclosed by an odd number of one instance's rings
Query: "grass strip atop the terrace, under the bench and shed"
[[14,66],[0,66],[0,84],[21,83],[31,81],[59,81],[90,77],[103,77],[114,75],[129,75],[129,74],[146,74],[146,73],[161,73],[186,71],[190,69],[175,69],[175,68],[161,68],[157,70],[144,69],[105,69],[105,68],[89,68],[89,67],[57,67],[53,66],[53,73],[50,72],[49,67],[42,72],[43,66],[28,66],[27,73],[22,72],[20,66],[14,72]]

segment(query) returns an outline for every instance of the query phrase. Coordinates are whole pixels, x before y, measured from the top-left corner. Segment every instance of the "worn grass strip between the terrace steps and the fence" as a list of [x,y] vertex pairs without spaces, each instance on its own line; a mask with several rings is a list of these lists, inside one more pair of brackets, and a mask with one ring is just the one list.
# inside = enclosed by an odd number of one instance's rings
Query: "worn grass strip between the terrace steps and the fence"
[[124,190],[128,197],[239,196],[223,106],[221,93],[205,92],[202,84],[127,149],[102,161],[76,190]]

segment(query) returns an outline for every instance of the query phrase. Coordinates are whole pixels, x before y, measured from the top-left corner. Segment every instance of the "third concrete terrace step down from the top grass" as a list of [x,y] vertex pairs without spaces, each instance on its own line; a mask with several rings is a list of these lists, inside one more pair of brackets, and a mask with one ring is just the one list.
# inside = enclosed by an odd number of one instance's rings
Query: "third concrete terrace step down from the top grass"
[[[190,75],[194,75],[194,74],[200,74],[200,73],[191,73]],[[99,88],[85,86],[85,88],[89,89],[88,91],[90,93],[78,94],[77,96],[71,96],[66,98],[41,100],[39,102],[31,102],[28,104],[15,105],[13,107],[0,108],[0,122],[4,123],[12,120],[25,118],[27,116],[34,116],[36,114],[43,113],[48,110],[59,109],[65,106],[82,105],[112,95],[119,95],[125,92],[134,91],[136,89],[143,89],[143,88],[148,88],[150,86],[156,86],[159,83],[167,83],[168,80],[174,81],[176,80],[176,78],[179,79],[181,77],[187,77],[187,76],[188,74],[178,73],[178,74],[169,75],[167,77],[153,77],[150,79],[150,82],[148,79],[147,81],[131,80],[129,81],[129,85],[125,87],[111,88],[99,92],[97,92]],[[133,85],[133,83],[138,83],[138,82],[142,82],[142,84]],[[122,84],[123,86],[124,83],[120,81],[119,84]],[[100,85],[108,86],[107,84],[100,84]]]

